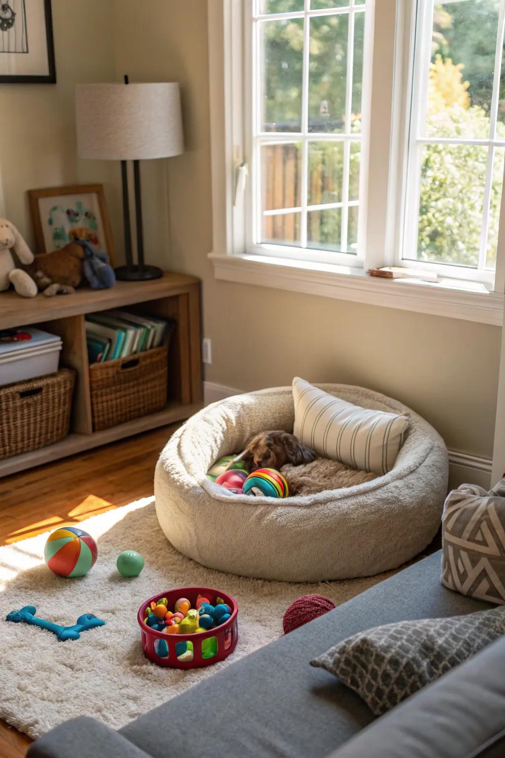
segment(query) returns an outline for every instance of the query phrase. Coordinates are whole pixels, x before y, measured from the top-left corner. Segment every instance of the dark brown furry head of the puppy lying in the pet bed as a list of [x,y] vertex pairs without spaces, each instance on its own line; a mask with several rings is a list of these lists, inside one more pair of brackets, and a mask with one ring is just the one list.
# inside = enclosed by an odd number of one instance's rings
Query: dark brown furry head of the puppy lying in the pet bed
[[257,468],[279,468],[285,463],[295,466],[310,463],[316,453],[298,442],[294,434],[287,431],[264,431],[257,434],[235,461],[243,461],[249,473]]

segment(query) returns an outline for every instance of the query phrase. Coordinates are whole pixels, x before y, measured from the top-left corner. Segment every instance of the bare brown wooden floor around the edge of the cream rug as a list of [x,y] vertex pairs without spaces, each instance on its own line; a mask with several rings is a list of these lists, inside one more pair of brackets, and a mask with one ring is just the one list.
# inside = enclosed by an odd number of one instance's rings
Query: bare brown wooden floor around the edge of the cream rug
[[[178,425],[1,479],[0,545],[152,495],[157,457]],[[20,758],[28,747],[25,735],[0,720],[0,758]]]

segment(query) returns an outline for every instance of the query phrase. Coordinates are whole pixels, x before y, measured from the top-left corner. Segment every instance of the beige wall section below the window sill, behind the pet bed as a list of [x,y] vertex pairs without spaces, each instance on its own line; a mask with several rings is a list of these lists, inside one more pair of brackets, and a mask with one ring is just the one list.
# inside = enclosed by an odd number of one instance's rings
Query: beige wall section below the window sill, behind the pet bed
[[[496,327],[260,287],[219,290],[222,307],[207,313],[212,381],[253,389],[300,374],[360,384],[407,403],[451,449],[491,457]],[[232,324],[235,340],[219,338],[220,321]]]

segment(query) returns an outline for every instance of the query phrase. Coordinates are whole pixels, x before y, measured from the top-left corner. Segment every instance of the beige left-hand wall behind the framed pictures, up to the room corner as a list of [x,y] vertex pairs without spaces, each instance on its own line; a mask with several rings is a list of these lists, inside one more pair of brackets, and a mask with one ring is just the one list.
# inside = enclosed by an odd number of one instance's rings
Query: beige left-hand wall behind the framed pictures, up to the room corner
[[17,224],[33,244],[26,189],[101,182],[120,240],[119,168],[76,158],[73,105],[76,83],[114,76],[111,3],[53,0],[52,12],[58,83],[0,85],[0,215]]

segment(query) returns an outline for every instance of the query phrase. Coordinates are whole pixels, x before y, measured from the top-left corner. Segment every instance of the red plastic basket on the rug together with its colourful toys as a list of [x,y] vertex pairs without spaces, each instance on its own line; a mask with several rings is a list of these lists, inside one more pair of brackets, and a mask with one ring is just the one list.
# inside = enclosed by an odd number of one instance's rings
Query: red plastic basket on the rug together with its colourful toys
[[227,658],[238,640],[238,606],[209,587],[182,587],[142,603],[137,620],[145,656],[158,666],[198,669]]

